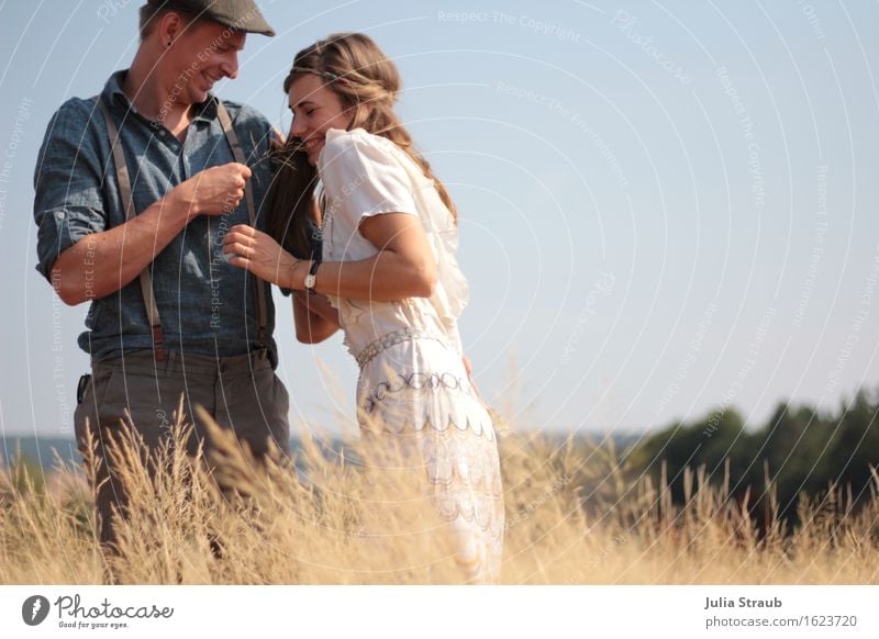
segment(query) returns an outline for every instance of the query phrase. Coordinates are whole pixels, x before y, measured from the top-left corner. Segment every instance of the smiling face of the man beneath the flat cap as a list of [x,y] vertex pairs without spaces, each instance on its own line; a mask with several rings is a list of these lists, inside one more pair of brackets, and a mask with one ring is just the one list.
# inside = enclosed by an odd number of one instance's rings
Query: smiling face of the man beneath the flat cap
[[207,20],[185,26],[165,53],[176,75],[177,101],[198,104],[208,99],[214,82],[236,78],[245,37],[243,32]]

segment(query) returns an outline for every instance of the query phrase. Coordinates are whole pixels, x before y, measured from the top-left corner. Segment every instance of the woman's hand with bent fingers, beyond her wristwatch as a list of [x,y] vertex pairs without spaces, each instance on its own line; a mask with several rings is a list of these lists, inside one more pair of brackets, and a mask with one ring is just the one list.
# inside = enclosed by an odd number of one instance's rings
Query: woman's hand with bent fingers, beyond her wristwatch
[[304,288],[308,262],[281,248],[275,239],[247,224],[236,224],[223,238],[223,254],[229,264],[247,269],[256,277],[279,287]]

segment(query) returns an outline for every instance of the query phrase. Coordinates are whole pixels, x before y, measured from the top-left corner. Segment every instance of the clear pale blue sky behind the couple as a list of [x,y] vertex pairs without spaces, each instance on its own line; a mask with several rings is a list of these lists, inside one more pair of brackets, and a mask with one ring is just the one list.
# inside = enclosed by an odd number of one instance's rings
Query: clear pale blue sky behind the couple
[[[70,435],[86,307],[34,270],[46,123],[137,46],[141,2],[0,0],[0,429]],[[477,381],[534,429],[646,429],[879,385],[876,2],[260,2],[223,98],[287,126],[294,53],[369,33],[460,211]],[[278,306],[292,419],[356,367]],[[322,363],[319,363],[322,362]]]

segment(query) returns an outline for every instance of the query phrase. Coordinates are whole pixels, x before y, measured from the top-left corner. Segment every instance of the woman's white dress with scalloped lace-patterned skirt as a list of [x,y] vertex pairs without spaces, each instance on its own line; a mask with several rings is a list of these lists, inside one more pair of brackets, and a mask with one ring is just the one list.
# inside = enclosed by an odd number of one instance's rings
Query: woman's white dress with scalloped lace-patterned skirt
[[363,128],[330,130],[318,160],[323,260],[352,261],[378,249],[358,231],[370,215],[418,215],[437,266],[431,298],[377,302],[330,298],[360,367],[358,421],[365,438],[393,439],[413,457],[454,539],[469,582],[498,579],[504,511],[491,418],[461,361],[457,317],[468,300],[457,261],[457,227],[433,181],[396,144]]

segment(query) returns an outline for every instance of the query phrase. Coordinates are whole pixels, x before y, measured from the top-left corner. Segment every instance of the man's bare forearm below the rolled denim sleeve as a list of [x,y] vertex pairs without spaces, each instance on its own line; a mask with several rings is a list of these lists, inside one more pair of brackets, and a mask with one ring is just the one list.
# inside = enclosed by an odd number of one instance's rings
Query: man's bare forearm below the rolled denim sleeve
[[104,298],[134,281],[186,227],[185,208],[171,192],[129,222],[77,242],[52,268],[58,296],[75,305]]

